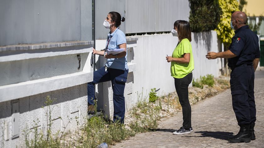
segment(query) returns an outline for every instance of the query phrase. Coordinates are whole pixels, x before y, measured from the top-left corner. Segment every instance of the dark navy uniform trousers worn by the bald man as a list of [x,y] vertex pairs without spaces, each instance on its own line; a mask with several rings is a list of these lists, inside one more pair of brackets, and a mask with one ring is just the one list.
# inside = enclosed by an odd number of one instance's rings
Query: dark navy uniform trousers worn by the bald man
[[231,69],[232,105],[238,125],[255,123],[254,68],[252,64],[243,64]]

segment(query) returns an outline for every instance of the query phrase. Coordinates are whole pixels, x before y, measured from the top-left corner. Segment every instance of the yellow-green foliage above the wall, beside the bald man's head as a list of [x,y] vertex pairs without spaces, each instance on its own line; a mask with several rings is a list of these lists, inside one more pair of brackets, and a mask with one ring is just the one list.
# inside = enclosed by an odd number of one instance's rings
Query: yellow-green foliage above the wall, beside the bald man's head
[[219,6],[222,9],[222,14],[216,28],[217,37],[227,47],[235,35],[234,30],[230,27],[230,21],[232,13],[239,11],[239,3],[237,0],[219,0]]

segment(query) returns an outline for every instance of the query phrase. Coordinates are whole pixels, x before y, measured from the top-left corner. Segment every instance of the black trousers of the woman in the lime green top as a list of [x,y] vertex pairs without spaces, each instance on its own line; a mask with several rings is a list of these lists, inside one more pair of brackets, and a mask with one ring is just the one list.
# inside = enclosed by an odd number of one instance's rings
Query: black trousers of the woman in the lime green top
[[189,102],[188,87],[192,82],[192,73],[187,74],[181,79],[174,78],[175,89],[179,96],[179,102],[182,106],[183,127],[189,129],[191,127],[191,105]]

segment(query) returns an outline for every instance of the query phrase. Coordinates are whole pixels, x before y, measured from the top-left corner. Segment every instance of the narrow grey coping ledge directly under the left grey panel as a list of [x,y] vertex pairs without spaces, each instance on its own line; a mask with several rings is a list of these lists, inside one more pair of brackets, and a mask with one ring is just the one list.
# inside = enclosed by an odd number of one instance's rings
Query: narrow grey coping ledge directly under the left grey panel
[[94,41],[68,41],[68,42],[56,42],[56,43],[11,45],[11,46],[1,46],[0,52],[37,50],[37,49],[46,49],[46,48],[49,49],[49,48],[57,48],[57,47],[70,47],[70,46],[92,45],[92,44],[94,44]]

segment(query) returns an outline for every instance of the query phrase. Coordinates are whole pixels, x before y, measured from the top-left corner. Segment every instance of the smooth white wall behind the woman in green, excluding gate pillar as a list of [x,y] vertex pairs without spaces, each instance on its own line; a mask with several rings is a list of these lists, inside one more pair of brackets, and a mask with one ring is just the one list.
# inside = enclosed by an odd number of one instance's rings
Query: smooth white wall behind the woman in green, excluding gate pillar
[[[148,94],[151,88],[160,89],[159,95],[167,95],[175,91],[174,79],[170,74],[170,63],[166,55],[172,55],[178,38],[171,34],[136,36],[137,47],[134,49],[133,63],[137,63],[134,72],[133,93]],[[219,76],[218,60],[208,60],[205,55],[209,51],[218,52],[216,31],[192,33],[192,51],[195,69],[193,78],[200,78],[206,74]],[[220,62],[220,60],[219,60]],[[136,98],[135,98],[136,99]]]

